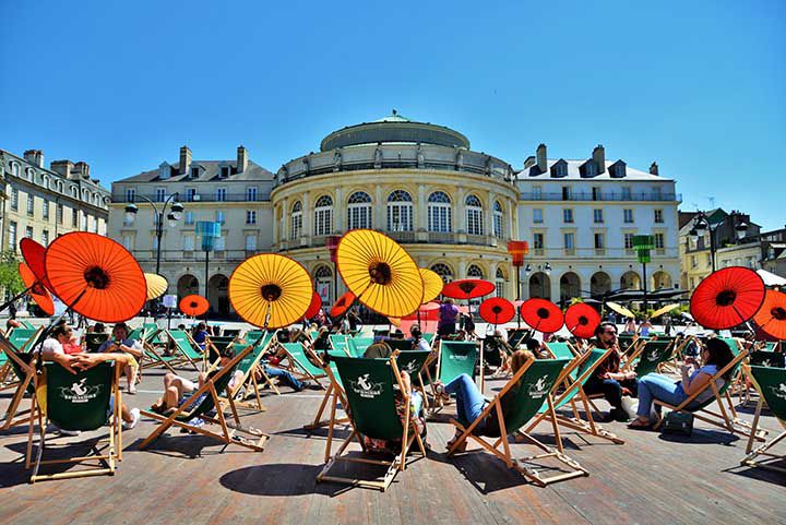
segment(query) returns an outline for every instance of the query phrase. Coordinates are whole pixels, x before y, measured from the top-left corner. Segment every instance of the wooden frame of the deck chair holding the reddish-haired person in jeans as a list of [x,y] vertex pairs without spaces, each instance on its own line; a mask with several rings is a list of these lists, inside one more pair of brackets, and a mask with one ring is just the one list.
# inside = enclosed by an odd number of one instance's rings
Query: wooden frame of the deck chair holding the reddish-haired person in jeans
[[[545,363],[547,363],[549,361],[553,362],[553,363],[558,363],[558,362],[562,363],[562,368],[559,371],[559,375],[551,383],[551,385],[549,387],[549,393],[546,394],[546,403],[548,404],[547,413],[551,416],[550,417],[551,428],[552,428],[556,441],[558,443],[557,449],[550,449],[549,446],[547,446],[546,444],[541,443],[539,440],[534,438],[529,433],[533,426],[529,426],[527,428],[527,430],[510,429],[507,426],[505,416],[502,410],[502,403],[501,403],[502,397],[522,380],[522,378],[525,375],[525,373],[527,371],[529,371],[533,368],[533,366],[536,366],[536,367],[538,365],[544,366]],[[538,365],[536,365],[536,363],[538,363]],[[562,450],[561,439],[560,439],[560,434],[559,434],[559,427],[557,425],[557,416],[556,416],[555,408],[553,408],[552,395],[550,393],[553,390],[553,387],[556,387],[559,384],[558,381],[560,381],[560,379],[565,378],[570,373],[570,371],[568,370],[569,367],[570,367],[569,361],[565,359],[553,359],[553,360],[543,359],[539,361],[536,359],[531,359],[521,369],[519,369],[519,371],[515,374],[513,374],[513,377],[510,379],[510,381],[508,381],[508,383],[502,387],[502,390],[484,408],[484,410],[480,413],[480,415],[472,423],[469,423],[467,427],[464,427],[457,420],[451,419],[451,423],[453,423],[462,433],[458,437],[458,439],[456,439],[453,442],[453,444],[451,445],[451,448],[448,450],[448,456],[454,455],[457,452],[458,446],[461,446],[462,443],[464,443],[469,438],[472,438],[473,440],[478,442],[478,444],[480,444],[480,446],[483,449],[487,450],[491,454],[493,454],[497,457],[499,457],[500,460],[502,460],[505,463],[505,465],[508,466],[508,468],[515,469],[522,476],[524,476],[526,479],[535,482],[539,487],[546,487],[550,484],[558,482],[558,481],[564,481],[567,479],[588,476],[590,473],[584,467],[582,467],[577,462],[568,457]],[[497,423],[499,426],[498,430],[499,430],[500,437],[497,438],[497,440],[493,443],[490,443],[490,442],[486,441],[484,439],[484,437],[474,433],[474,430],[478,427],[478,425],[480,425],[483,421],[486,420],[486,417],[489,416],[492,410],[496,411],[496,414],[497,414]],[[533,455],[533,456],[528,456],[528,457],[524,457],[522,460],[513,458],[511,455],[508,437],[515,433],[516,431],[520,435],[523,435],[527,441],[529,441],[533,445],[535,445],[543,453]],[[502,445],[501,451],[499,450],[500,445]],[[524,462],[534,462],[534,461],[541,461],[541,460],[547,460],[547,458],[557,460],[562,465],[568,467],[568,472],[562,472],[562,473],[553,475],[553,476],[544,477],[537,470],[522,465],[522,463],[524,463]]]

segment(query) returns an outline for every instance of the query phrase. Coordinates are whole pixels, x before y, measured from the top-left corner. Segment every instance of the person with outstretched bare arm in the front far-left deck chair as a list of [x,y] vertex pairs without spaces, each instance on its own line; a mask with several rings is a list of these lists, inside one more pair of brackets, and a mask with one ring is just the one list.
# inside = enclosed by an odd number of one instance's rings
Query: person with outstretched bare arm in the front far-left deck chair
[[[72,337],[71,326],[66,322],[57,324],[49,333],[49,337],[38,347],[41,359],[57,362],[72,373],[76,373],[78,370],[87,370],[105,361],[112,361],[118,366],[128,366],[130,360],[133,359],[129,354],[66,354],[63,344],[69,343]],[[129,409],[124,403],[120,407],[120,414],[123,420],[123,430],[134,428],[140,420],[140,409]],[[79,435],[80,433],[79,431],[66,430],[60,430],[60,432],[67,435]]]

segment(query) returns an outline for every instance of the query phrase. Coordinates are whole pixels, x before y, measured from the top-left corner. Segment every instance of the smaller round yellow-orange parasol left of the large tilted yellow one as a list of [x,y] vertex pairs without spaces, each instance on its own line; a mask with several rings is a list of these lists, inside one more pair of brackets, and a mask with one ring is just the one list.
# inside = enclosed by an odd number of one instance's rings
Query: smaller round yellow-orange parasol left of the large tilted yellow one
[[247,322],[281,329],[302,319],[313,283],[299,262],[276,253],[248,258],[229,277],[229,301]]

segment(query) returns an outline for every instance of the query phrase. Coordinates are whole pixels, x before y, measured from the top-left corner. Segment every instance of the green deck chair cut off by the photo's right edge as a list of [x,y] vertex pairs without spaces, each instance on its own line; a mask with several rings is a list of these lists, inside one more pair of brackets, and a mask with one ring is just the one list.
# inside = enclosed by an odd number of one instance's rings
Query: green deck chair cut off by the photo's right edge
[[[741,464],[786,473],[786,468],[773,464],[778,461],[783,462],[786,460],[786,455],[777,455],[770,452],[770,449],[786,438],[786,368],[757,366],[743,366],[742,368],[755,390],[759,391],[759,404],[757,405],[751,433],[748,439],[748,446],[746,448],[747,456],[742,460]],[[784,431],[753,450],[753,437],[759,430],[759,418],[764,403],[767,404]],[[757,461],[759,456],[765,456],[765,461]]]

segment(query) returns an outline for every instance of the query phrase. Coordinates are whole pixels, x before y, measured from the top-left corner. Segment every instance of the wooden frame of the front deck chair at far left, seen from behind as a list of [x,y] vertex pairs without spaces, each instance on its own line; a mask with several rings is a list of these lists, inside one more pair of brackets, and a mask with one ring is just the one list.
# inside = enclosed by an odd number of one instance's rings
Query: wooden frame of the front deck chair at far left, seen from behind
[[[53,368],[58,367],[61,368],[60,365],[56,362],[48,362],[44,365],[45,372],[43,374],[36,374],[35,375],[35,390],[36,395],[31,396],[31,413],[37,414],[38,419],[38,431],[39,431],[39,441],[37,445],[37,453],[36,453],[36,461],[35,465],[33,465],[33,428],[34,425],[31,421],[31,425],[27,427],[27,449],[25,453],[25,469],[29,469],[31,466],[33,466],[33,473],[29,478],[31,484],[35,484],[36,481],[40,480],[49,480],[49,479],[72,479],[72,478],[81,478],[86,476],[103,476],[103,475],[109,475],[114,476],[115,470],[117,468],[117,463],[122,461],[122,419],[120,417],[120,410],[122,406],[122,399],[120,394],[120,377],[123,373],[123,367],[116,367],[112,366],[109,362],[99,363],[92,372],[91,370],[86,370],[84,372],[78,372],[78,374],[73,378],[74,381],[76,381],[80,375],[85,375],[87,373],[95,373],[100,372],[102,369],[106,371],[107,375],[109,377],[109,395],[114,396],[115,402],[112,404],[112,410],[111,415],[109,416],[109,420],[106,422],[106,425],[109,427],[109,435],[108,435],[108,449],[106,450],[106,453],[102,453],[100,451],[96,451],[96,454],[87,455],[87,456],[76,456],[76,457],[68,457],[68,458],[61,458],[61,460],[44,460],[44,452],[46,449],[46,434],[47,434],[47,427],[49,422],[49,415],[51,413],[52,407],[49,406],[51,403],[50,401],[47,401],[47,408],[44,409],[39,405],[39,395],[48,395],[51,392],[48,391],[48,380],[47,377],[52,373]],[[107,370],[107,369],[111,370]],[[67,372],[70,373],[70,372]],[[69,377],[69,380],[72,378]],[[43,389],[44,385],[47,385],[47,389]],[[60,426],[61,423],[59,423]],[[97,428],[103,427],[104,423],[99,423]],[[100,442],[103,440],[98,440]],[[96,443],[97,444],[97,443]],[[64,473],[56,473],[56,474],[38,474],[38,470],[41,465],[60,465],[64,463],[86,463],[86,462],[93,462],[97,461],[100,464],[104,464],[106,466],[96,466],[94,468],[88,469],[81,469],[75,472],[64,472]]]

